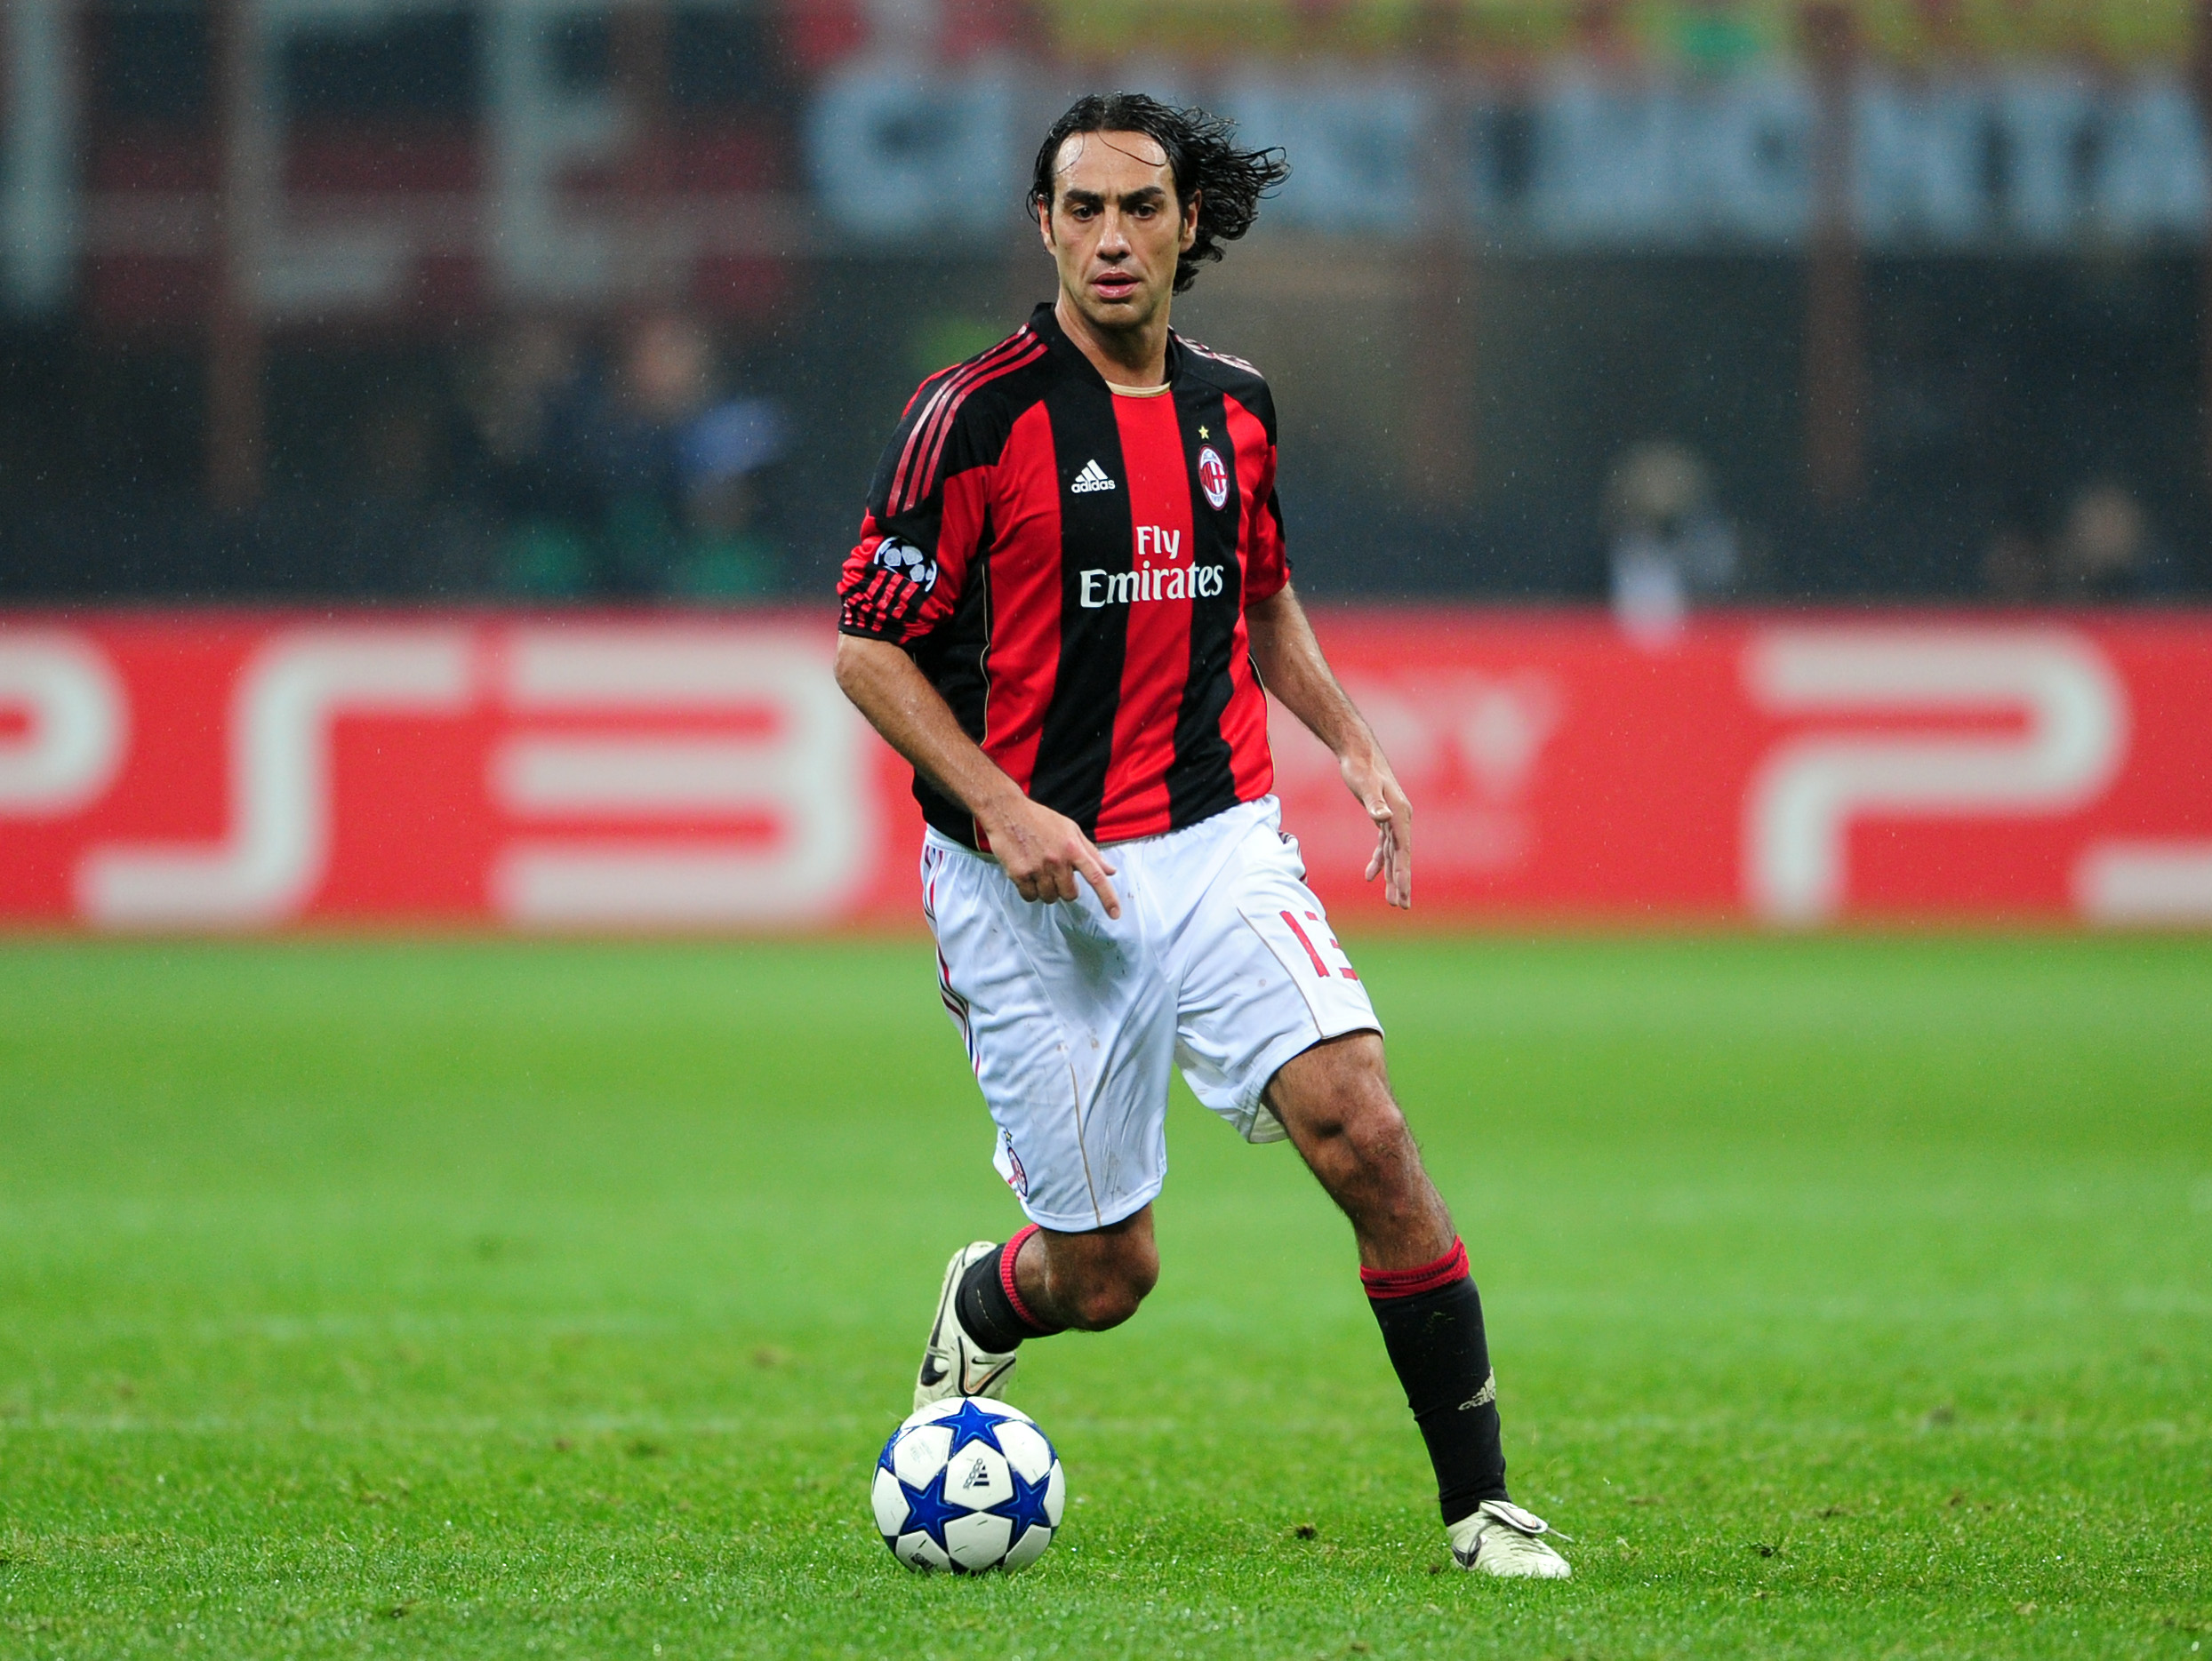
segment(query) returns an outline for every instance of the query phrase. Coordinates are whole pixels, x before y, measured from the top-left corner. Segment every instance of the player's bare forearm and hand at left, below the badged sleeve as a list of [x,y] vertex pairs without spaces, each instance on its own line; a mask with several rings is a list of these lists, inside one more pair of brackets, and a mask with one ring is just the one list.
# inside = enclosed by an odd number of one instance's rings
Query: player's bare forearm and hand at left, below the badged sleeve
[[1031,801],[962,728],[905,646],[838,635],[836,683],[898,754],[975,816],[975,829],[1024,900],[1073,900],[1075,878],[1121,916],[1113,867],[1066,814]]

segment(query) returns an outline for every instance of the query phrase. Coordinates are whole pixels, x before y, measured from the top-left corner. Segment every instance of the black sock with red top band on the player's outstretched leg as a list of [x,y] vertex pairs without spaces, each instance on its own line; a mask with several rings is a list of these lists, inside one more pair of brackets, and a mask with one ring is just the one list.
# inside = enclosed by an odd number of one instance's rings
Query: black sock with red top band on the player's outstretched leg
[[1498,1380],[1482,1334],[1482,1298],[1460,1241],[1418,1270],[1360,1270],[1407,1407],[1429,1444],[1444,1524],[1506,1497]]

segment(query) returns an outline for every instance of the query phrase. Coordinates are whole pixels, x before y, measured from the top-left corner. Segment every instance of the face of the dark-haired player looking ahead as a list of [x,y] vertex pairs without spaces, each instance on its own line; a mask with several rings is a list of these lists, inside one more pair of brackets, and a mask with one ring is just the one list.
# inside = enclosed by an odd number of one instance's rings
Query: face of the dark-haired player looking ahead
[[1060,146],[1044,246],[1060,288],[1102,330],[1152,323],[1175,294],[1175,257],[1199,232],[1197,197],[1175,201],[1175,173],[1144,133],[1075,133]]

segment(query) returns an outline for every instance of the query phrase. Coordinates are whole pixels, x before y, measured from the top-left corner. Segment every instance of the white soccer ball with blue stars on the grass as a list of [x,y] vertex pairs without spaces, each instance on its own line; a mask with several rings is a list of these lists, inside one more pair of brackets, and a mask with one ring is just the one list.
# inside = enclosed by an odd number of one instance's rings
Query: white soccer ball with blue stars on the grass
[[1020,1407],[982,1396],[931,1402],[876,1460],[869,1500],[883,1544],[907,1568],[1026,1568],[1053,1544],[1068,1480]]

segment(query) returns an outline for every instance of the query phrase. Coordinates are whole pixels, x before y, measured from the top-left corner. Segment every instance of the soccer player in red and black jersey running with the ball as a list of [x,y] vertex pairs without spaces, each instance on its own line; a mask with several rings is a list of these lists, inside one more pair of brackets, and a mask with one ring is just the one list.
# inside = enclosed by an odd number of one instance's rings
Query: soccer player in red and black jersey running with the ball
[[838,683],[914,763],[940,993],[1031,1219],[953,1254],[914,1402],[1000,1396],[1026,1340],[1137,1312],[1172,1064],[1352,1221],[1460,1566],[1562,1577],[1506,1497],[1467,1250],[1283,834],[1265,694],[1336,754],[1400,907],[1411,807],[1290,588],[1267,383],[1168,327],[1285,175],[1203,111],[1062,115],[1029,197],[1060,296],[922,383],[845,562]]

